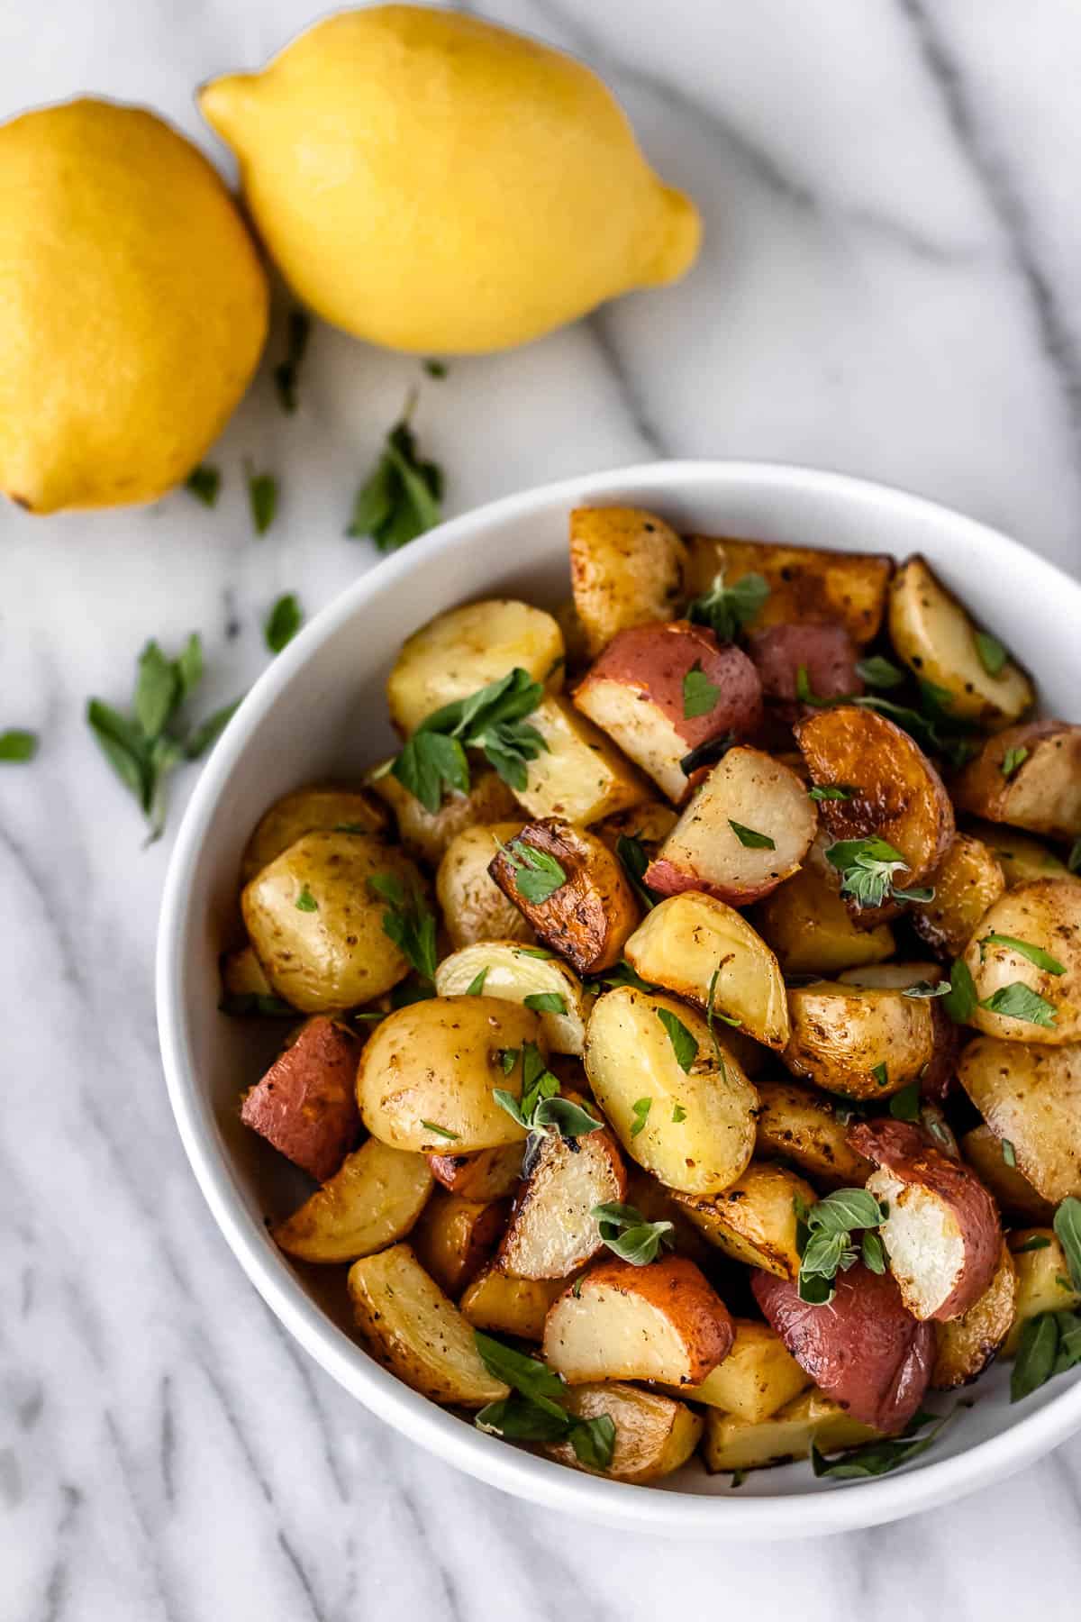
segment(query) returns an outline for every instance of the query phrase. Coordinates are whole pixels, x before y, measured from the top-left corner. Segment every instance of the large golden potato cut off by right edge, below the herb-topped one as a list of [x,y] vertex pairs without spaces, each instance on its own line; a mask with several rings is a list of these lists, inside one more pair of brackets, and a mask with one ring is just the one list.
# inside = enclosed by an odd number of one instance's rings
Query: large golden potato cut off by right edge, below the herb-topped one
[[958,1080],[1042,1199],[1081,1197],[1081,1046],[977,1036],[961,1054]]

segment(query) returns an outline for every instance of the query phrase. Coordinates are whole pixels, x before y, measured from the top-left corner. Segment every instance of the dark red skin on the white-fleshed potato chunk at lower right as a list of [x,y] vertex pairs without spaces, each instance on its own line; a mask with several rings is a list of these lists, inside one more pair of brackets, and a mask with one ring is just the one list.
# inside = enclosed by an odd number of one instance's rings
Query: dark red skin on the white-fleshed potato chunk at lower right
[[861,1121],[846,1134],[849,1148],[898,1178],[937,1194],[953,1212],[964,1242],[958,1283],[934,1319],[961,1317],[990,1289],[1002,1257],[998,1207],[968,1166],[934,1148],[909,1121]]

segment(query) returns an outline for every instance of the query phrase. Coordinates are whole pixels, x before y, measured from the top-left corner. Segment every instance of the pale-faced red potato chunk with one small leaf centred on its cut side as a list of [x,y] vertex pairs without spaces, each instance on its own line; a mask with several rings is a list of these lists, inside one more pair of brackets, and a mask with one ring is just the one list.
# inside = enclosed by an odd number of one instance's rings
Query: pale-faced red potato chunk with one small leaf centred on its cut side
[[749,907],[797,871],[817,827],[796,772],[762,749],[729,749],[694,792],[645,882],[661,895],[705,890]]

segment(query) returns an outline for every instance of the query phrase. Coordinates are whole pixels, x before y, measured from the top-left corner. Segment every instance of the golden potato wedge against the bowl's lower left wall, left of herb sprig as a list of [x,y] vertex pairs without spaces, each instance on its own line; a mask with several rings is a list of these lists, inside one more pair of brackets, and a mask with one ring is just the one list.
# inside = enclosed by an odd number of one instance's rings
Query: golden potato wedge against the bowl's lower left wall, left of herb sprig
[[408,1244],[353,1262],[348,1294],[371,1356],[421,1397],[455,1408],[483,1408],[507,1397],[509,1388],[481,1362],[472,1325]]

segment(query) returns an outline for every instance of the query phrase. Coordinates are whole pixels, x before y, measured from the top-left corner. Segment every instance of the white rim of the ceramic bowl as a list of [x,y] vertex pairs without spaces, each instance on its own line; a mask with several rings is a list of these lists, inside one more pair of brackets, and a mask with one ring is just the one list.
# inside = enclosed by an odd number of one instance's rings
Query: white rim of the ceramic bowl
[[736,1499],[728,1494],[642,1491],[629,1483],[577,1473],[553,1460],[507,1447],[464,1424],[374,1362],[306,1296],[285,1259],[267,1252],[266,1236],[248,1212],[237,1174],[199,1108],[183,996],[183,963],[191,925],[188,871],[199,855],[217,798],[250,735],[316,647],[370,599],[392,590],[436,555],[468,545],[478,530],[527,517],[532,511],[553,504],[570,508],[583,496],[603,503],[606,498],[617,498],[624,487],[655,491],[660,498],[666,493],[677,498],[684,480],[703,477],[715,482],[718,495],[726,487],[736,490],[754,482],[778,493],[810,491],[861,508],[880,509],[885,504],[912,521],[921,514],[938,522],[945,519],[958,534],[998,550],[1015,566],[1023,564],[1029,577],[1034,571],[1045,576],[1049,587],[1075,599],[1081,615],[1081,582],[1002,530],[895,485],[788,462],[682,459],[632,464],[601,474],[575,474],[473,508],[366,569],[347,586],[253,683],[229,722],[194,787],[165,876],[156,960],[157,1025],[177,1129],[203,1197],[229,1247],[285,1328],[371,1413],[441,1460],[548,1508],[676,1538],[775,1539],[849,1531],[911,1515],[1024,1468],[1081,1427],[1081,1380],[1050,1397],[1006,1431],[956,1457],[930,1460],[898,1476],[838,1484],[831,1492]]

